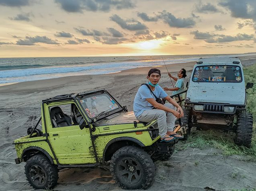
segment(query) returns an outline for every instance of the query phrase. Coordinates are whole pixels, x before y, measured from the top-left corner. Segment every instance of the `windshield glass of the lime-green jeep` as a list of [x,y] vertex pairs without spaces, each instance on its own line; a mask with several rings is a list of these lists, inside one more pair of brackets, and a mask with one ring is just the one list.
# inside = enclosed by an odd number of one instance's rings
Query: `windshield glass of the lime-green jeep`
[[119,108],[118,104],[108,94],[85,97],[80,100],[80,103],[89,118],[97,117],[103,111],[108,113]]

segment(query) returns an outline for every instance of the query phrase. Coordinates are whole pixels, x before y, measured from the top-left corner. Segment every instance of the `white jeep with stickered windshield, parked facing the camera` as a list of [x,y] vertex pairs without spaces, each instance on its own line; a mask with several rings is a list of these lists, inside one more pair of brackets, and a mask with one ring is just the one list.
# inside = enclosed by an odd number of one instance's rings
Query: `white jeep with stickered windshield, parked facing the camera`
[[[188,84],[187,84],[188,86]],[[246,111],[248,88],[239,58],[199,58],[189,81],[185,98],[188,126],[221,128],[235,132],[235,143],[250,147],[253,116]]]

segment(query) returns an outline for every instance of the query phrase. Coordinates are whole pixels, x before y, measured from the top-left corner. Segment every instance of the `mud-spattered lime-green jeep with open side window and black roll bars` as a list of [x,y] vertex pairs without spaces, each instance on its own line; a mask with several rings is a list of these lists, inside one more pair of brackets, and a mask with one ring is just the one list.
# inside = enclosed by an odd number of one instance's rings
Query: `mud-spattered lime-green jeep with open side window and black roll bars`
[[153,161],[167,160],[177,143],[160,143],[156,121],[138,122],[104,89],[43,100],[41,118],[27,133],[13,143],[15,162],[26,162],[35,189],[53,188],[59,169],[109,162],[121,188],[146,189],[154,178]]

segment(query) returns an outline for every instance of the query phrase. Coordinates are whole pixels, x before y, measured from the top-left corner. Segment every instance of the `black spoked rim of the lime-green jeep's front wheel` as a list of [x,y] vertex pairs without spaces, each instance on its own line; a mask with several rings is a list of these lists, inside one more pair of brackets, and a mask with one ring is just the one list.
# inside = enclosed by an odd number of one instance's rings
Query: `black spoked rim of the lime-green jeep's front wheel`
[[117,170],[118,177],[128,184],[136,184],[141,179],[141,164],[131,157],[121,159],[117,164]]

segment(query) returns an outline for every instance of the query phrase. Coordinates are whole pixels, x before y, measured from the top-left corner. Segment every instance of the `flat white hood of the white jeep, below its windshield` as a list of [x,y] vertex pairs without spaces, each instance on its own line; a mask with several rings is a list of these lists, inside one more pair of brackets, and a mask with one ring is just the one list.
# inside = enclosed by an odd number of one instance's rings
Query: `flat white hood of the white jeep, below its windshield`
[[198,83],[190,81],[186,98],[191,102],[245,104],[244,83]]

